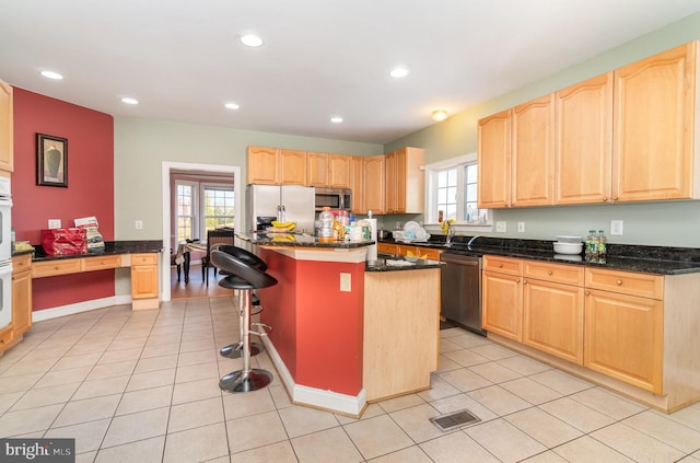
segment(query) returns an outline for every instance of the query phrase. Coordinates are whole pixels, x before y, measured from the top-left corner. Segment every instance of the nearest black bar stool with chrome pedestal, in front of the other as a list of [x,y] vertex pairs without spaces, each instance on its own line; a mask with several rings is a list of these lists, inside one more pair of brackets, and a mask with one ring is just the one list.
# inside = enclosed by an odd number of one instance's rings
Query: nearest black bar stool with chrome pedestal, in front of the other
[[[219,381],[219,387],[228,392],[253,392],[267,386],[272,381],[272,373],[259,368],[250,368],[250,292],[254,289],[277,285],[277,279],[231,254],[214,250],[211,262],[229,276],[223,280],[225,288],[237,290],[238,311],[243,313],[243,369],[233,371]],[[220,282],[221,285],[221,282]],[[223,286],[223,285],[221,285]]]

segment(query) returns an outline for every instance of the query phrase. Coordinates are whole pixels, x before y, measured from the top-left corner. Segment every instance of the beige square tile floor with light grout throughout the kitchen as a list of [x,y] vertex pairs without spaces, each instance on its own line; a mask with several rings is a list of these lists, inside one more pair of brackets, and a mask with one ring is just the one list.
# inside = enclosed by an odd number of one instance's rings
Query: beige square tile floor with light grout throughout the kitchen
[[[290,403],[273,383],[222,393],[240,360],[232,298],[119,305],[36,323],[0,358],[0,437],[75,438],[78,462],[700,463],[700,404],[670,416],[459,328],[432,389],[362,419]],[[254,364],[273,371],[269,358]],[[429,418],[481,421],[442,432]]]

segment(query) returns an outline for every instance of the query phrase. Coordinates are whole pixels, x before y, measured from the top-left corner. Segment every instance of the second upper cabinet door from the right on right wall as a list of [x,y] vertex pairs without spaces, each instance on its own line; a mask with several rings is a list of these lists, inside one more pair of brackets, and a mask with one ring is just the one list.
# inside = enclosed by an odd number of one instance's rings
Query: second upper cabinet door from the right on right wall
[[612,72],[555,93],[555,202],[604,202],[611,197]]

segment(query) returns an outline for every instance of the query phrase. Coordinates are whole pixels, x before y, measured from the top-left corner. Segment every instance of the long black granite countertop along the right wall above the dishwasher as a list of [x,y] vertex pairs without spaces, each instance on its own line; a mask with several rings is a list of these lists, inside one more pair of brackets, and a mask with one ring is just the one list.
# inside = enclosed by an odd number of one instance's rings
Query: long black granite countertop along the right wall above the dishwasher
[[[446,246],[445,236],[436,235],[428,243],[410,243],[411,246],[438,248],[453,254],[485,254],[516,257],[558,264],[583,265],[592,268],[640,271],[656,275],[681,275],[700,273],[700,248],[644,246],[608,243],[608,257],[603,264],[587,263],[583,255],[555,254],[552,243],[547,240],[516,240],[490,236],[457,235],[451,246]],[[393,243],[393,240],[382,240]],[[471,241],[471,245],[469,245]],[[398,243],[397,244],[406,244]]]

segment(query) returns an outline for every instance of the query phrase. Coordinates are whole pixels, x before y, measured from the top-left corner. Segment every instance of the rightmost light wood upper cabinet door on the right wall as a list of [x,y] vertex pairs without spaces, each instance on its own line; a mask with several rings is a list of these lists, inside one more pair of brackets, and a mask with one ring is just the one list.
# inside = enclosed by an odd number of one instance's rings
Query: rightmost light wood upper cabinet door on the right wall
[[691,42],[615,71],[614,200],[698,196],[696,53]]

